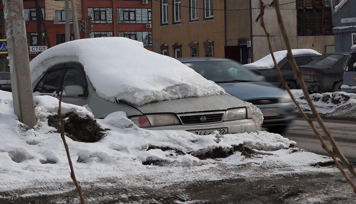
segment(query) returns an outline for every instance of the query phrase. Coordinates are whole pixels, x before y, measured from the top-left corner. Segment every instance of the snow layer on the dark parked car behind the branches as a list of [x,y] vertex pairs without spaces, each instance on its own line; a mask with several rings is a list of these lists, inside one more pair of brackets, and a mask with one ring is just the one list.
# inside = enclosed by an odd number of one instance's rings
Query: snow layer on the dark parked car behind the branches
[[[307,55],[307,54],[314,54],[314,55],[321,55],[319,52],[312,50],[312,49],[293,49],[293,55]],[[284,57],[287,57],[287,50],[273,52],[274,57],[276,58],[277,63],[282,61]],[[269,54],[256,62],[244,65],[247,68],[254,68],[254,69],[271,69],[274,67],[274,63],[272,60],[272,55]]]

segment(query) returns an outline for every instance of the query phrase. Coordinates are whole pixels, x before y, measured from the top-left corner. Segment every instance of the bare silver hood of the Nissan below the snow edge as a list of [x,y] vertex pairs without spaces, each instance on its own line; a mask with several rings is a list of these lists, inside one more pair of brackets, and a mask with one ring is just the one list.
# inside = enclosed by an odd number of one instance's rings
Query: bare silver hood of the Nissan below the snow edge
[[[132,105],[132,104],[131,104]],[[183,98],[171,101],[160,101],[145,104],[143,106],[132,105],[147,113],[187,113],[201,111],[221,111],[229,108],[244,107],[246,104],[230,95],[206,96],[195,98]]]

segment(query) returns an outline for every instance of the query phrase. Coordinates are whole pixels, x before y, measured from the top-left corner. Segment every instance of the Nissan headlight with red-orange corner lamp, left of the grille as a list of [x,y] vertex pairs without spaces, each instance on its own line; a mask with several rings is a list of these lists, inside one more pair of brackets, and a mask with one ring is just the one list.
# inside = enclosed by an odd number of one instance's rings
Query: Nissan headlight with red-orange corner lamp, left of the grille
[[130,117],[138,127],[173,126],[181,124],[178,117],[173,113],[149,114]]

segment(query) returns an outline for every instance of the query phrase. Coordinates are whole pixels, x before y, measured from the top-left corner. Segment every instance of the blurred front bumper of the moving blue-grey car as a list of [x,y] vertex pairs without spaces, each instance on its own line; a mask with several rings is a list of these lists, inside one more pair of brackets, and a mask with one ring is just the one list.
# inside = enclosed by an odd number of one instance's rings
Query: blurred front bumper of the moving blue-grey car
[[263,116],[262,127],[288,125],[295,118],[293,102],[275,103],[275,104],[271,104],[271,105],[263,105],[263,106],[257,106],[257,107],[260,109],[263,109],[263,108],[278,108],[279,109],[279,114],[276,114],[273,116]]

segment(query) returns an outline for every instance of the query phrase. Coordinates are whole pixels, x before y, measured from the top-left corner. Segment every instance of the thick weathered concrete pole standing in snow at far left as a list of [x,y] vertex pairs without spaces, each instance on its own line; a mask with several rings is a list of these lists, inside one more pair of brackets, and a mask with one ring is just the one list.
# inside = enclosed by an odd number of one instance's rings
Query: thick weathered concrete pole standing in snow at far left
[[14,113],[19,117],[20,122],[32,128],[36,124],[36,118],[22,0],[2,0],[2,3],[6,22]]

